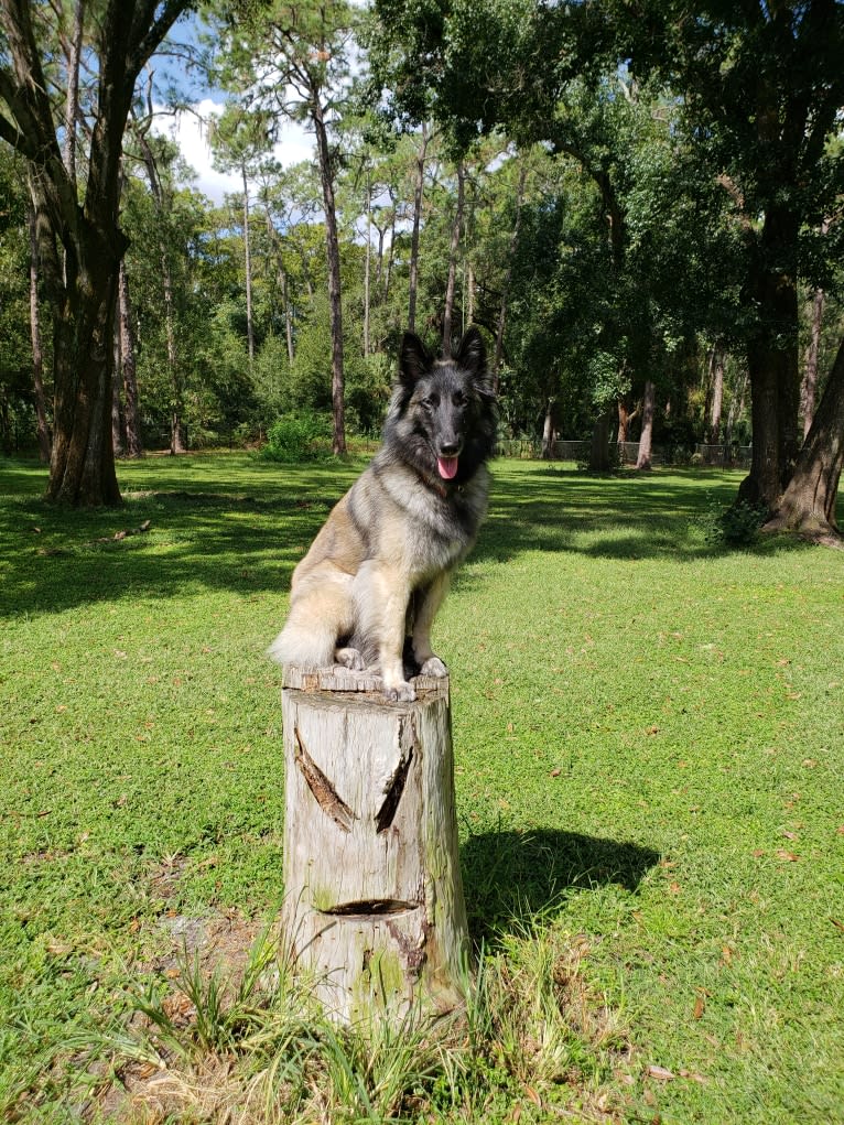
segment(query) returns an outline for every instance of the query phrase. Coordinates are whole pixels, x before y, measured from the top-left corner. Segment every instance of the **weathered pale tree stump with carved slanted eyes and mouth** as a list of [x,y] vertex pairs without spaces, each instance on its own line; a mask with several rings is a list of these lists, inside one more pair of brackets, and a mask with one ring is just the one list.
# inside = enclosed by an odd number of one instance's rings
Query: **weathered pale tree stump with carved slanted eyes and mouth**
[[352,1023],[463,1002],[468,950],[448,680],[285,668],[285,902],[298,971]]

